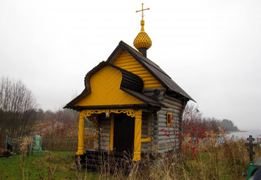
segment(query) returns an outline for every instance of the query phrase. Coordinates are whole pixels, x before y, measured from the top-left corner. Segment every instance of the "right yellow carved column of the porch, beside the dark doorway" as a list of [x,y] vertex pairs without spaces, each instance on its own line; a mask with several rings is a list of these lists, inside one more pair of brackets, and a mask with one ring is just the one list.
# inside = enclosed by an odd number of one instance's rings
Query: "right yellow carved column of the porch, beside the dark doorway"
[[142,110],[140,109],[140,110],[136,111],[136,116],[135,116],[133,161],[140,161],[141,117],[142,117]]

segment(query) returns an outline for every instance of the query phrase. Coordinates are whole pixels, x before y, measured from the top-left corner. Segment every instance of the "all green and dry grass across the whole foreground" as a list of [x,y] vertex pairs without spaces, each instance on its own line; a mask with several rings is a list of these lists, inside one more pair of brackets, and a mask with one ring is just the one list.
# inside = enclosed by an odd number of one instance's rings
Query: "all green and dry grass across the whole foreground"
[[[46,151],[39,156],[0,158],[0,179],[246,179],[249,152],[245,140],[226,139],[226,143],[217,145],[214,133],[208,133],[205,140],[198,143],[193,143],[189,137],[183,140],[181,158],[168,154],[164,161],[158,162],[152,162],[149,157],[141,162],[130,160],[125,167],[128,174],[122,169],[115,169],[111,174],[113,163],[110,162],[104,163],[99,172],[86,169],[79,172],[75,167],[75,152]],[[257,160],[261,147],[254,147],[254,151]]]

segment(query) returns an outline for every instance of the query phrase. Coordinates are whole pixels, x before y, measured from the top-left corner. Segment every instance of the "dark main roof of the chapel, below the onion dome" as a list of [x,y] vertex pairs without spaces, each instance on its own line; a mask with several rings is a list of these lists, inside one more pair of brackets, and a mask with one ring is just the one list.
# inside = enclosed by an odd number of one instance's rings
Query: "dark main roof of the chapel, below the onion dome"
[[[107,62],[113,63],[117,56],[119,56],[120,52],[123,50],[126,50],[129,52],[133,58],[135,58],[144,68],[149,71],[154,78],[159,80],[162,85],[164,85],[167,90],[170,90],[171,92],[176,92],[178,95],[181,95],[183,97],[188,98],[188,100],[193,100],[190,95],[187,94],[179,85],[177,85],[174,80],[172,80],[163,70],[160,68],[157,64],[154,64],[154,62],[150,61],[150,59],[147,59],[145,56],[140,54],[137,50],[133,49],[133,47],[130,47],[125,42],[121,41],[119,42],[119,45],[116,47],[114,52],[109,56],[107,59]],[[195,102],[195,100],[193,100]]]

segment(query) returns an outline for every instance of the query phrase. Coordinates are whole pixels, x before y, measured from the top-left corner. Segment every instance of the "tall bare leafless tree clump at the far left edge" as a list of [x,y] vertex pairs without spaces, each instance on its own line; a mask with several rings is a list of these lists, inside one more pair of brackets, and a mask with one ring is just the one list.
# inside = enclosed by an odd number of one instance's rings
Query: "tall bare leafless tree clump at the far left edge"
[[35,124],[36,101],[21,80],[0,79],[0,133],[20,138],[28,135]]

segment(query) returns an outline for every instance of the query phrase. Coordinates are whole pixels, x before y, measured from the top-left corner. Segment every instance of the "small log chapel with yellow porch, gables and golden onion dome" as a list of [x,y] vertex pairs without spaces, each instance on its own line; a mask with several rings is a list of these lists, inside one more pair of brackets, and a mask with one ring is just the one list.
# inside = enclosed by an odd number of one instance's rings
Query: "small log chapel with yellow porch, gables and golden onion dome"
[[[127,152],[133,161],[152,152],[166,155],[179,146],[183,109],[193,98],[147,58],[152,41],[144,30],[144,10],[142,4],[141,30],[133,42],[138,50],[119,42],[107,61],[86,74],[83,92],[64,107],[80,112],[80,157],[90,153],[84,150],[90,138],[97,138],[92,152]],[[85,118],[102,130],[97,136],[85,136]]]

